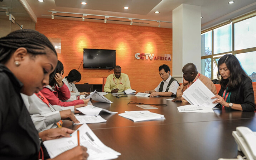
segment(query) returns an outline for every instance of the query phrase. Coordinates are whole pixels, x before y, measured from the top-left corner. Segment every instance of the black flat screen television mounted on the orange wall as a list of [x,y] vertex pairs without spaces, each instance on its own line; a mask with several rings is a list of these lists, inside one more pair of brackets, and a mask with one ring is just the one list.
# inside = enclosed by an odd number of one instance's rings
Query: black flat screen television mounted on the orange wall
[[116,50],[83,49],[83,68],[113,69],[116,66]]

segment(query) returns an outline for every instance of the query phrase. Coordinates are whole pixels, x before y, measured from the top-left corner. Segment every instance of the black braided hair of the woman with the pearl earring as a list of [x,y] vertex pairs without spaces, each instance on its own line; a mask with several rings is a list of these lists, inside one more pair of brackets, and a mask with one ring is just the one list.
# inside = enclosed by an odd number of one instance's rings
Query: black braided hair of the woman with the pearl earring
[[22,29],[0,38],[0,63],[6,63],[11,54],[20,47],[26,48],[32,55],[46,54],[45,49],[48,47],[57,55],[52,43],[45,35],[35,30]]

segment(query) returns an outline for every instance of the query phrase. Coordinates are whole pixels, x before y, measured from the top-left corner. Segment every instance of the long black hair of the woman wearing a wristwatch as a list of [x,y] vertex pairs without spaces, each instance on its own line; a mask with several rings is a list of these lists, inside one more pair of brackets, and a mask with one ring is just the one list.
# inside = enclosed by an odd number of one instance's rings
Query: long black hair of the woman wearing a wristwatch
[[[230,70],[230,80],[223,79],[219,73],[219,66],[223,63],[226,63],[227,68]],[[221,84],[221,87],[226,88],[227,86],[228,87],[227,91],[228,92],[232,91],[232,89],[240,86],[244,78],[249,78],[251,80],[251,78],[248,77],[248,75],[245,73],[245,71],[241,67],[240,62],[235,55],[226,54],[219,59],[218,79],[220,80],[219,84]]]

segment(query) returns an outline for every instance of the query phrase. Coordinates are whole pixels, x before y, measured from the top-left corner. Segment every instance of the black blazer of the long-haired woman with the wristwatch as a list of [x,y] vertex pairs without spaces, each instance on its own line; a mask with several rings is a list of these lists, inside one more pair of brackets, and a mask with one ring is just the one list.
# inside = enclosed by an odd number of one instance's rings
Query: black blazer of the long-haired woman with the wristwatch
[[[219,96],[222,96],[226,88],[221,87],[219,90]],[[245,77],[242,84],[231,91],[230,102],[235,104],[240,104],[243,111],[255,111],[254,105],[254,92],[252,87],[252,81]]]

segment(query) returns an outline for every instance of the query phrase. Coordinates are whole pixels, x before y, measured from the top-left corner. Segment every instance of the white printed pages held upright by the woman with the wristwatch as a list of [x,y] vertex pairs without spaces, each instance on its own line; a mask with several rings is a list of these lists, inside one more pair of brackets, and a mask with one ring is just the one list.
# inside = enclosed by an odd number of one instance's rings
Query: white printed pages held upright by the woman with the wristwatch
[[211,99],[215,95],[210,91],[200,79],[197,79],[191,86],[184,92],[183,96],[191,105],[204,106],[213,108],[217,103],[212,103],[216,98]]

